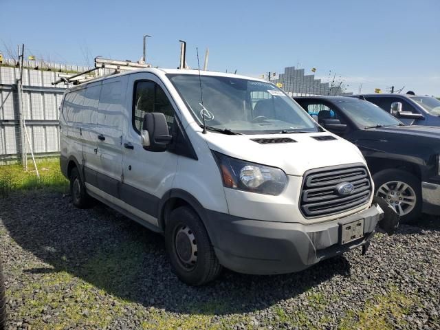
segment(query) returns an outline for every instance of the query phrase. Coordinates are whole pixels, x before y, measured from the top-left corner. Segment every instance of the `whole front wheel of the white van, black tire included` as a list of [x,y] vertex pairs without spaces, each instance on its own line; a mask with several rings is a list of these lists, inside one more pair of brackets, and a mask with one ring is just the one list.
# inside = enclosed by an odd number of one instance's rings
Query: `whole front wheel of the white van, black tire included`
[[[222,267],[208,232],[191,208],[181,206],[171,212],[165,228],[165,244],[173,270],[182,282],[203,285],[219,276]],[[197,260],[191,261],[194,256]]]

